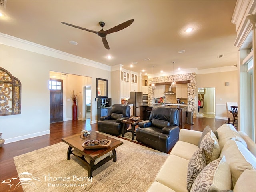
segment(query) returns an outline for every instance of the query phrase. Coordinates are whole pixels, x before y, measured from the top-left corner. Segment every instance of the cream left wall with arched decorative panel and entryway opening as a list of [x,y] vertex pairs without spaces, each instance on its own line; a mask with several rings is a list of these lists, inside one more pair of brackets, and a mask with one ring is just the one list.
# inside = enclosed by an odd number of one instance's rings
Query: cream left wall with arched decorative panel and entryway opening
[[[55,52],[51,52],[55,54]],[[58,52],[58,55],[59,52]],[[60,56],[58,56],[60,57]],[[66,58],[66,55],[64,55]],[[92,77],[92,119],[96,122],[96,78],[104,78],[109,81],[111,90],[110,71],[100,68],[62,60],[60,58],[38,54],[32,51],[14,48],[0,44],[0,64],[22,84],[21,90],[21,114],[0,116],[0,132],[6,143],[22,140],[43,134],[49,134],[49,72],[65,72],[68,74]],[[90,64],[86,60],[86,64]],[[103,66],[103,64],[102,64]],[[86,83],[79,83],[80,86]],[[67,90],[68,93],[69,90]],[[111,98],[111,92],[109,92]]]

